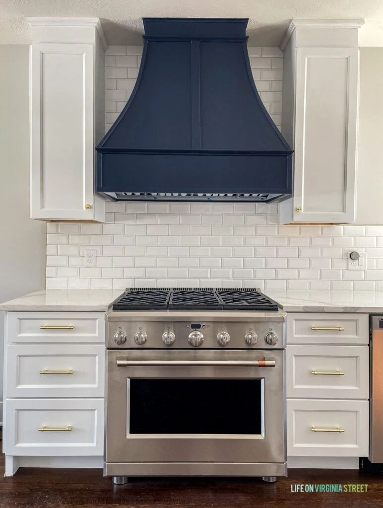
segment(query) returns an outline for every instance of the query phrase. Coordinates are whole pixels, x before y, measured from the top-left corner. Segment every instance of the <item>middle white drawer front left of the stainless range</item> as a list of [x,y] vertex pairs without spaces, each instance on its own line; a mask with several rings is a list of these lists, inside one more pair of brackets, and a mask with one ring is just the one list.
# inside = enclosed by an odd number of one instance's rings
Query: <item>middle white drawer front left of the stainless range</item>
[[7,345],[7,397],[103,397],[103,345]]

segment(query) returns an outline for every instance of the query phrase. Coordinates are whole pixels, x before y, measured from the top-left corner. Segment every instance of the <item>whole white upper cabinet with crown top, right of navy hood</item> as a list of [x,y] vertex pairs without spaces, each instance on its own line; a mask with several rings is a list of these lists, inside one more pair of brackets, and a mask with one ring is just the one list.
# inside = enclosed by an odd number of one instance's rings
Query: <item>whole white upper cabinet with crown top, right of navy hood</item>
[[285,46],[282,134],[294,148],[286,223],[354,223],[360,23],[298,22]]

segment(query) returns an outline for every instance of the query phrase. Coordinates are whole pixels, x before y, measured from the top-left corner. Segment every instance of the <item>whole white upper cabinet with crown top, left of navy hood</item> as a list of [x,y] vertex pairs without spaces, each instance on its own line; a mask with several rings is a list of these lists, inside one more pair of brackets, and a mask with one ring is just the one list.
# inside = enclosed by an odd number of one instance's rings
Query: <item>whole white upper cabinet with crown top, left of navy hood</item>
[[[97,20],[29,20],[30,215],[104,220],[94,147],[105,111],[105,48]],[[102,34],[102,32],[101,32]]]

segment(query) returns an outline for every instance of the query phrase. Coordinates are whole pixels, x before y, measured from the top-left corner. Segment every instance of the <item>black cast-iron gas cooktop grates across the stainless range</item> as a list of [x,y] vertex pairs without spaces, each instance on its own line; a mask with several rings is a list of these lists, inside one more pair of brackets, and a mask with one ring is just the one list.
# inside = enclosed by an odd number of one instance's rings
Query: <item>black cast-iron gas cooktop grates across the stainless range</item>
[[113,310],[258,310],[278,305],[256,289],[128,288]]

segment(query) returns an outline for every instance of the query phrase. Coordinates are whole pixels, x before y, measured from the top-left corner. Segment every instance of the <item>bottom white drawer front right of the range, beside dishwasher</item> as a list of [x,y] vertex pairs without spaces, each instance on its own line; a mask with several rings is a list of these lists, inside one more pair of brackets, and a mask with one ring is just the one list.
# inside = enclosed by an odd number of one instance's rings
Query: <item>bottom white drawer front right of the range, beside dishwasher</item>
[[368,401],[288,399],[287,430],[290,456],[365,457]]

